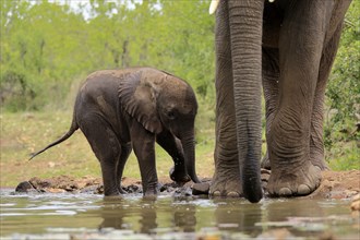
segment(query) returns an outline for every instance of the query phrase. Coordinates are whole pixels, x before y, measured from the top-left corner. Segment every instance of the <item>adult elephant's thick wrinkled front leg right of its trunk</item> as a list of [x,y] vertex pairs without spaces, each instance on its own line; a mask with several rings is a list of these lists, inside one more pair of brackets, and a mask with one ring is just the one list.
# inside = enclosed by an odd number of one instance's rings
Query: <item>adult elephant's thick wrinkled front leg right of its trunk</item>
[[311,118],[331,1],[289,4],[279,38],[279,106],[269,134],[272,195],[307,195],[320,184],[310,157]]

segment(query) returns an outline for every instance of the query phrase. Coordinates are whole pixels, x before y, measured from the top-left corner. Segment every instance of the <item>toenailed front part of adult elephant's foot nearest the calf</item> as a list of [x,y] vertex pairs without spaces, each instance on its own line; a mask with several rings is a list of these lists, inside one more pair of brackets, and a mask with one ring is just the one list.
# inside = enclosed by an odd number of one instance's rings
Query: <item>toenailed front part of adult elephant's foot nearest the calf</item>
[[209,187],[212,197],[240,197],[242,189],[240,179],[235,178],[214,178]]

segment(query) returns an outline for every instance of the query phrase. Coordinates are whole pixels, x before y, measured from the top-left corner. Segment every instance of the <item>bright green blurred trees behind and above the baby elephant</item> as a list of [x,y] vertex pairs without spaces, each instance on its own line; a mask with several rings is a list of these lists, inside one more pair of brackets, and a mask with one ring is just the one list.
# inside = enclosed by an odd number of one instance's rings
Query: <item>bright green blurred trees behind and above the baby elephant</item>
[[207,1],[91,0],[86,9],[79,1],[80,11],[69,3],[1,1],[5,110],[69,108],[63,98],[77,76],[133,65],[169,71],[213,99],[214,16]]

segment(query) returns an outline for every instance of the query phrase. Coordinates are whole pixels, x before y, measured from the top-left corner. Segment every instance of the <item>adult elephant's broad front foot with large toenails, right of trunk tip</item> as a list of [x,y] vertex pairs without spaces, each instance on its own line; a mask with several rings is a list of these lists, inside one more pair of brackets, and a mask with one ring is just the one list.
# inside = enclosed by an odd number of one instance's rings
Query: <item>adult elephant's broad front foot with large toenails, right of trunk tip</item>
[[320,182],[321,169],[307,161],[296,171],[289,166],[272,169],[266,188],[271,196],[302,196],[315,191]]

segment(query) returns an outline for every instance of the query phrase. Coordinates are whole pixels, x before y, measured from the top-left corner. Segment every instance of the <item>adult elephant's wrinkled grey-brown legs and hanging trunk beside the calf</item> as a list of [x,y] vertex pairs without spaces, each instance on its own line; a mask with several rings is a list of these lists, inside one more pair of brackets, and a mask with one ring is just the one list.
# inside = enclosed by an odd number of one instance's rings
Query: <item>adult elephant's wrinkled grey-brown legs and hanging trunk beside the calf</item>
[[274,196],[307,195],[326,168],[323,101],[345,0],[220,0],[212,195],[262,199],[261,86]]

